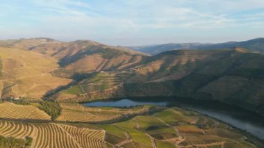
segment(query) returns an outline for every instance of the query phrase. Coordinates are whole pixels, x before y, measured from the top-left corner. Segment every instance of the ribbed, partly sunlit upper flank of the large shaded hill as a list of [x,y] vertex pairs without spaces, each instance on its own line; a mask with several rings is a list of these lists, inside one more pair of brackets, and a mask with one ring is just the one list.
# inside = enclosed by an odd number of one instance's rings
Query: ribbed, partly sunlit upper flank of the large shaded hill
[[141,65],[133,67],[136,74],[127,82],[177,80],[187,76],[213,60],[221,59],[232,51],[166,51],[151,56]]

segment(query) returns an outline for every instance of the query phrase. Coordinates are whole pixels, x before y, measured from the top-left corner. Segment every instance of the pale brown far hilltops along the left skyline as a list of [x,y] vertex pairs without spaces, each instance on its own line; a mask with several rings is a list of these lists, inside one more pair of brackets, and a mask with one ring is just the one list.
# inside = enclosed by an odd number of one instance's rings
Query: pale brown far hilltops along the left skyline
[[0,40],[0,47],[27,49],[47,56],[54,56],[58,59],[68,56],[69,54],[73,55],[76,53],[76,51],[87,49],[88,47],[99,47],[97,49],[110,48],[117,51],[124,51],[129,54],[147,55],[140,51],[134,51],[127,47],[110,46],[91,40],[76,40],[73,42],[61,42],[51,38]]

